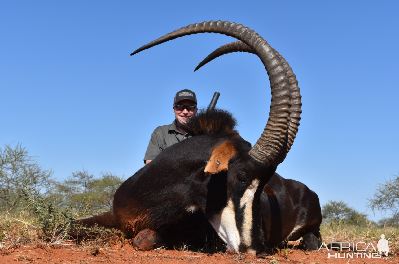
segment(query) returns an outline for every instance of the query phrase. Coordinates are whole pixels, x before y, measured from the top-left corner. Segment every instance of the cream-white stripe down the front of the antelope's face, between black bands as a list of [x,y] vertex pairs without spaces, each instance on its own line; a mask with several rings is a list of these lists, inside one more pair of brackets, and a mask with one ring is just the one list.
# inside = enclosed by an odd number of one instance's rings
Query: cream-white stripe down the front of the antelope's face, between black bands
[[259,180],[253,180],[252,184],[245,190],[243,197],[241,198],[241,208],[244,209],[244,222],[242,231],[242,240],[245,246],[251,245],[251,229],[252,229],[252,202],[256,190],[258,189]]

